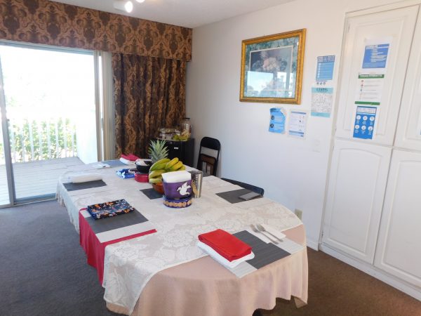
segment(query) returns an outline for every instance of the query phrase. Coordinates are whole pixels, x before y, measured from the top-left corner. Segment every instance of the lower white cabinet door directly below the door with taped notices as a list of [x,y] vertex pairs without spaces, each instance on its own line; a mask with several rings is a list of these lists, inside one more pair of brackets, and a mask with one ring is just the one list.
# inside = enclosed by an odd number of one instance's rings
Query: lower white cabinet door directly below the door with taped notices
[[323,242],[373,263],[391,149],[335,140]]

